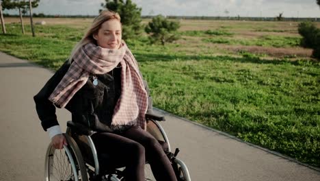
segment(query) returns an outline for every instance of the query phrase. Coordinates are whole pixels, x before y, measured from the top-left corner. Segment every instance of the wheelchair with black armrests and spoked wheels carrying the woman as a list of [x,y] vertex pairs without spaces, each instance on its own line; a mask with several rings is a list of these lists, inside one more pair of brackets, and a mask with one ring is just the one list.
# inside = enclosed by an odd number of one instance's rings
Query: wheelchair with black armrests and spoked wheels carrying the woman
[[[171,152],[168,136],[158,123],[165,121],[156,114],[146,114],[147,132],[152,134],[167,154],[172,163],[178,181],[190,181],[189,171],[185,163],[176,158],[179,149]],[[72,121],[67,122],[64,136],[68,145],[63,149],[55,149],[51,145],[46,150],[44,179],[46,181],[125,181],[124,165],[110,162],[111,156],[97,153],[91,135],[92,130]],[[101,161],[103,160],[103,161]],[[148,160],[145,164],[146,180],[155,181]],[[161,180],[163,181],[163,180]]]

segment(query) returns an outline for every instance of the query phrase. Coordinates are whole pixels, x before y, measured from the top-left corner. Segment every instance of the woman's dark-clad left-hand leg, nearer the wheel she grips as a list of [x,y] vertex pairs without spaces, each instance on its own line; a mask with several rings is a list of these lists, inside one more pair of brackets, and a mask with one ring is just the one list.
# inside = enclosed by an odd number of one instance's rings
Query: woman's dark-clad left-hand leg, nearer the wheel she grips
[[144,181],[144,146],[118,134],[96,133],[92,140],[98,153],[106,153],[126,165],[126,180]]

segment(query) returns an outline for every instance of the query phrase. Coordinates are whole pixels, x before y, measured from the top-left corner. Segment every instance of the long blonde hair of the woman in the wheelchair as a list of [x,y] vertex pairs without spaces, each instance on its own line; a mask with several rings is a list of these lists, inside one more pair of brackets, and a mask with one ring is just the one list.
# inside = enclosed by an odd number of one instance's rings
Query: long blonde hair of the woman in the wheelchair
[[105,21],[109,21],[110,19],[117,19],[119,22],[121,21],[120,15],[117,12],[113,12],[110,10],[103,10],[101,13],[94,18],[91,27],[88,29],[87,33],[83,36],[83,38],[73,47],[70,57],[69,63],[72,62],[73,56],[75,53],[85,44],[87,43],[96,43],[94,39],[94,34],[98,34],[98,30],[100,29],[101,25],[105,23]]

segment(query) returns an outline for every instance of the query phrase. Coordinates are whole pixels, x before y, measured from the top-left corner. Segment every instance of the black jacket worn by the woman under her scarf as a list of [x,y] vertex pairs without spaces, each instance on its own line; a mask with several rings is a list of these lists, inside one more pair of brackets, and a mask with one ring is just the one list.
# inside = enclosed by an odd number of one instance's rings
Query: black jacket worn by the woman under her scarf
[[[54,125],[59,125],[55,114],[55,106],[49,101],[49,96],[62,80],[70,67],[66,61],[50,78],[40,92],[34,96],[36,110],[42,128],[46,130]],[[70,99],[66,109],[72,114],[72,121],[81,123],[98,132],[113,132],[110,128],[114,107],[121,94],[121,67],[104,75],[96,75],[98,85],[92,83],[90,75],[86,84]],[[148,92],[148,86],[145,83]],[[149,95],[149,93],[148,93]],[[152,100],[149,97],[148,110],[152,110]]]

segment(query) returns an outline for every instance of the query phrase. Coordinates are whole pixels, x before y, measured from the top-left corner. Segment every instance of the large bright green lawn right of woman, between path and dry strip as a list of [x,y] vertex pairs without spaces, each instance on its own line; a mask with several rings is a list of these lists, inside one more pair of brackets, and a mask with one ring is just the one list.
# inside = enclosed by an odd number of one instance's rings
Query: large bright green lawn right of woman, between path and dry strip
[[319,64],[152,57],[141,69],[157,107],[319,166]]

